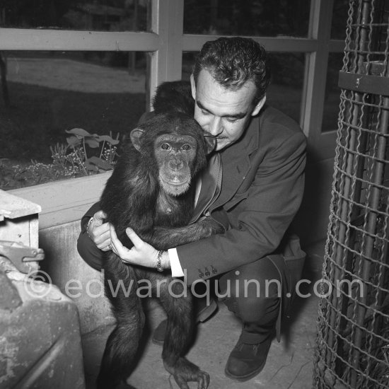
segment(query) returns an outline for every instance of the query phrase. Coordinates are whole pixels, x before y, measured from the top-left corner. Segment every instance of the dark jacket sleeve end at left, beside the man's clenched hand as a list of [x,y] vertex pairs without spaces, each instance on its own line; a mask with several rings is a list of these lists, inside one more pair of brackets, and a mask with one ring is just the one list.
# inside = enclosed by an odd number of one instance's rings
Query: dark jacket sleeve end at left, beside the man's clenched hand
[[77,251],[81,258],[93,269],[101,270],[103,267],[103,251],[101,251],[89,238],[88,233],[86,233],[86,225],[88,224],[89,219],[97,212],[100,211],[100,203],[95,203],[93,206],[86,211],[86,214],[83,215],[81,219],[81,233],[79,239],[77,240]]

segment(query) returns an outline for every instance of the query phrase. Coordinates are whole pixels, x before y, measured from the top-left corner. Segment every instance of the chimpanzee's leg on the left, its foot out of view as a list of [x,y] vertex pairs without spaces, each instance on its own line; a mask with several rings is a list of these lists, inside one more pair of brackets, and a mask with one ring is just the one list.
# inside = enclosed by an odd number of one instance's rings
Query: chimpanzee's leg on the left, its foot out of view
[[115,254],[105,263],[105,294],[117,320],[108,337],[98,375],[98,389],[112,389],[131,373],[144,327],[144,312],[137,296],[137,276]]

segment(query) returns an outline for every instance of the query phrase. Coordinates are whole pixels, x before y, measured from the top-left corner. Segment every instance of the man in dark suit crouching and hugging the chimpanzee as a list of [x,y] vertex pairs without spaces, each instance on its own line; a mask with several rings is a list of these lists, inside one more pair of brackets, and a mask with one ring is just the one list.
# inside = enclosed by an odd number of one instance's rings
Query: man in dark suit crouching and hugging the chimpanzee
[[92,209],[78,245],[95,268],[99,251],[112,249],[125,262],[185,274],[188,284],[216,280],[219,299],[243,323],[225,369],[236,381],[265,366],[305,257],[288,228],[303,197],[306,139],[296,122],[265,104],[269,77],[263,47],[241,37],[207,42],[194,65],[194,118],[216,137],[216,152],[199,181],[192,222],[212,217],[224,233],[158,252],[129,228],[129,250]]

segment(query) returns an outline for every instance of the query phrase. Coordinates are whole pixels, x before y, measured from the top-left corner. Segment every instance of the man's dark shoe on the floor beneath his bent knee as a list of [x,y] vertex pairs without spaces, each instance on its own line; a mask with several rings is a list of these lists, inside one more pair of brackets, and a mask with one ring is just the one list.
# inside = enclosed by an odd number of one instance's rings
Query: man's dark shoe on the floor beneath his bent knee
[[224,369],[226,376],[238,382],[255,377],[265,367],[270,344],[272,344],[272,336],[257,344],[246,344],[239,339],[228,357]]

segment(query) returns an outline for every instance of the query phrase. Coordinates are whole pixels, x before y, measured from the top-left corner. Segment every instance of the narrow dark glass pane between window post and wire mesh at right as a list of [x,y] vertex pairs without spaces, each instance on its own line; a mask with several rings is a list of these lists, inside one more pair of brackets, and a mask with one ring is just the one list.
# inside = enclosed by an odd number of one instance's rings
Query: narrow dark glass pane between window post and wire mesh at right
[[339,115],[340,88],[337,86],[339,71],[342,69],[343,53],[330,53],[328,57],[327,81],[325,85],[325,102],[323,110],[322,131],[337,129]]

